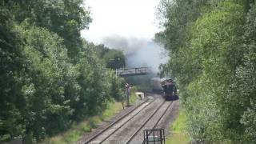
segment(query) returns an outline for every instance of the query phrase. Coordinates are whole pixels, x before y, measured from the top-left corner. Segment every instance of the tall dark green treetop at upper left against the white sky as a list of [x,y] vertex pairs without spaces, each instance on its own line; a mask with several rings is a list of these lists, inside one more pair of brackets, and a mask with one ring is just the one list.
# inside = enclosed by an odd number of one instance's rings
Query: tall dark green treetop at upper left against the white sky
[[90,12],[82,7],[82,0],[6,1],[17,22],[28,19],[34,26],[45,27],[64,39],[70,58],[81,48],[80,30],[89,27]]

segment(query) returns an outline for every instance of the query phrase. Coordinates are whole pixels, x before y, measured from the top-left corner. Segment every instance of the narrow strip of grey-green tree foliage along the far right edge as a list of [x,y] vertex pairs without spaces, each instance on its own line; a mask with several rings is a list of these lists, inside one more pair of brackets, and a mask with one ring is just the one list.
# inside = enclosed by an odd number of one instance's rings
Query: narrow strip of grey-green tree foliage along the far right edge
[[256,142],[255,138],[255,93],[256,93],[256,81],[255,81],[255,67],[256,67],[256,48],[255,48],[255,35],[256,35],[256,26],[255,14],[256,14],[256,5],[255,2],[252,2],[250,10],[246,15],[246,26],[245,26],[245,42],[244,46],[246,51],[244,53],[243,65],[239,66],[236,70],[236,77],[238,78],[237,86],[240,94],[243,95],[244,101],[243,105],[246,106],[246,110],[242,114],[241,123],[245,128],[244,131],[244,142]]

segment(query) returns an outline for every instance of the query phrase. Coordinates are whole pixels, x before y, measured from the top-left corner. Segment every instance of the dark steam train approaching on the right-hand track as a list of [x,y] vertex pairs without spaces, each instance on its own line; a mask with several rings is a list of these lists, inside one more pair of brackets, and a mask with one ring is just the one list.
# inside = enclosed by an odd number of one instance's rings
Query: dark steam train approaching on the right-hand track
[[178,90],[171,78],[152,78],[151,87],[155,93],[161,93],[166,101],[178,99]]

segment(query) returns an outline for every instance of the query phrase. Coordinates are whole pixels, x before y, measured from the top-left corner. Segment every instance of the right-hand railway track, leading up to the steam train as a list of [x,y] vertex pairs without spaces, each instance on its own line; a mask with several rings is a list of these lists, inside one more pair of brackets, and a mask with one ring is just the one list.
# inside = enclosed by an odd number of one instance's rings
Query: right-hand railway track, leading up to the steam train
[[138,127],[138,130],[136,130],[134,134],[126,141],[126,144],[143,144],[143,130],[156,128],[159,122],[161,122],[162,118],[164,118],[166,115],[166,112],[169,110],[171,104],[172,102],[162,102],[162,104],[158,106],[158,109],[155,110],[149,118],[147,118],[143,125]]

